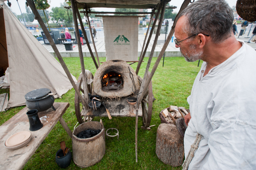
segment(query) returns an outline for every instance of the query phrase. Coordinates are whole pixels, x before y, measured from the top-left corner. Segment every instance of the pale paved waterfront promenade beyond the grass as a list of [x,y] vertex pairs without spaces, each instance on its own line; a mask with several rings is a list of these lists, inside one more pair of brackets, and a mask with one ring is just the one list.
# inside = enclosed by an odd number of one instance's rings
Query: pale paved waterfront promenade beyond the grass
[[[245,34],[243,34],[242,36],[236,36],[237,40],[242,40],[244,42],[247,42],[249,40],[249,37],[252,35],[252,31],[254,29],[254,27],[256,26],[256,24],[253,24],[252,27],[251,27],[251,24],[249,24],[249,26],[247,27],[246,29],[246,32]],[[251,28],[251,31],[249,33],[249,30]],[[240,25],[237,26],[237,30],[238,32],[240,32]],[[249,33],[249,36],[248,36],[248,33]],[[167,35],[168,36],[168,35]],[[167,37],[166,36],[166,37]],[[151,52],[151,49],[152,49],[152,45],[153,45],[153,42],[154,42],[154,38],[155,38],[155,34],[152,35],[152,38],[150,40],[150,43],[149,43],[149,47],[147,49],[147,53],[145,55],[145,57],[149,57],[149,54]],[[138,37],[138,56],[140,56],[140,52],[142,50],[142,46],[143,46],[143,42],[144,42],[144,39],[145,39],[145,35],[139,35]],[[174,39],[175,37],[173,37],[166,49],[166,53],[165,53],[165,57],[172,57],[172,56],[181,56],[181,52],[179,50],[179,48],[175,48],[175,43],[174,43]],[[100,37],[98,39],[94,39],[95,41],[95,45],[96,45],[96,49],[97,49],[97,53],[98,53],[98,56],[99,57],[105,57],[105,42],[104,42],[104,37]],[[157,41],[157,45],[156,45],[156,48],[154,50],[154,55],[153,57],[158,57],[162,47],[163,47],[163,44],[164,44],[164,41],[165,41],[165,34],[161,34],[159,37],[158,37],[158,41]],[[54,53],[54,50],[51,48],[51,45],[46,45],[44,44],[43,41],[40,41],[42,43],[42,45],[54,56],[54,57],[57,57]],[[250,45],[252,48],[254,48],[256,50],[256,43],[254,42],[251,42],[251,43],[248,43],[248,45]],[[65,45],[63,44],[56,44],[60,54],[62,57],[79,57],[79,53],[78,53],[78,46],[77,44],[73,44],[73,50],[69,50],[69,51],[66,51],[65,49]],[[94,50],[94,47],[93,47],[93,43],[90,42],[90,47],[94,53],[94,56],[95,55],[95,50]],[[90,52],[88,50],[88,47],[87,45],[82,45],[82,51],[83,51],[83,56],[84,57],[90,57]]]

